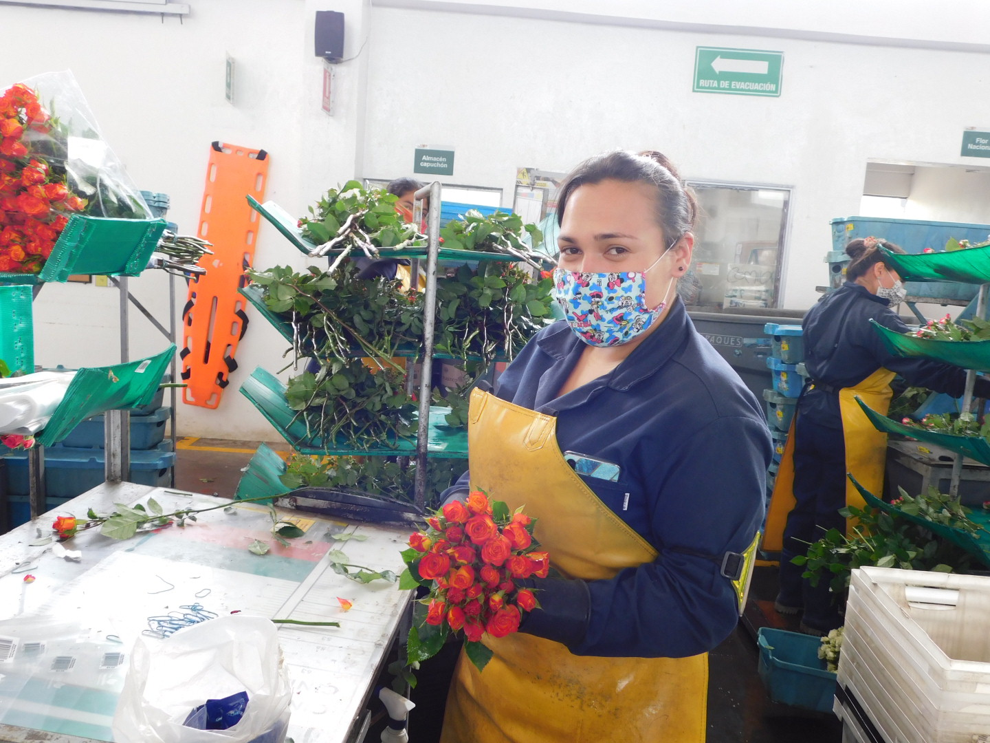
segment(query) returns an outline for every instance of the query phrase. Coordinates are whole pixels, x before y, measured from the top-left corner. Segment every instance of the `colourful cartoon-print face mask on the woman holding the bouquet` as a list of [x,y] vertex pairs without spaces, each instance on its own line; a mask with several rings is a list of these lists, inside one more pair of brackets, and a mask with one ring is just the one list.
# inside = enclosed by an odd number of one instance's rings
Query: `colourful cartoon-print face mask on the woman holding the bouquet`
[[[645,333],[667,305],[670,291],[668,286],[663,301],[647,307],[646,271],[669,251],[644,271],[592,273],[557,266],[553,270],[553,298],[570,329],[589,346],[621,346]],[[671,277],[671,286],[673,280]]]

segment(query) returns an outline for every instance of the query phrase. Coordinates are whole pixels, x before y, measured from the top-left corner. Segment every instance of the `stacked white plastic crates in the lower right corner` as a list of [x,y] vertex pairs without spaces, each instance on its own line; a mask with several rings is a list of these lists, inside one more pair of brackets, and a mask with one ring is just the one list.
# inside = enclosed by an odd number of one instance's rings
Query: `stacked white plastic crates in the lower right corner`
[[839,682],[891,743],[990,741],[990,578],[864,568]]

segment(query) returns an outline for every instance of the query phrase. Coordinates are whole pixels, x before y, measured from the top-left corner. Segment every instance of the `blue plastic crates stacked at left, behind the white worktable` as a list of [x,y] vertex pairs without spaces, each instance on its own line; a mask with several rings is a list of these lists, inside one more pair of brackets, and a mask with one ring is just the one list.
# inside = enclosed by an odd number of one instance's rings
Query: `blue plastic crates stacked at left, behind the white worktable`
[[[162,381],[170,378],[166,374]],[[162,399],[159,388],[148,405],[131,411],[131,476],[128,478],[131,482],[165,487],[171,484],[175,452],[171,439],[165,439],[165,429],[172,409],[163,406]],[[59,444],[46,447],[45,489],[49,510],[103,482],[104,435],[104,416],[95,415],[77,425]],[[0,447],[0,453],[5,455],[7,515],[13,528],[31,520],[28,453],[6,447]]]

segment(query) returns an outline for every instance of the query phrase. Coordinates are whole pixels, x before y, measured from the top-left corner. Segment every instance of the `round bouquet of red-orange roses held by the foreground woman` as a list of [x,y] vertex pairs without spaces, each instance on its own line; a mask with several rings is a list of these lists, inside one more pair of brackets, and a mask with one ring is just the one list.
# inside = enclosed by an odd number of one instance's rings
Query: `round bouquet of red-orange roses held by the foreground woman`
[[427,529],[409,538],[399,587],[430,587],[409,632],[410,665],[440,652],[449,632],[462,632],[467,657],[481,670],[492,655],[482,635],[505,637],[519,629],[523,612],[540,604],[517,582],[546,578],[549,570],[549,557],[533,538],[536,521],[474,490],[464,502],[437,510]]

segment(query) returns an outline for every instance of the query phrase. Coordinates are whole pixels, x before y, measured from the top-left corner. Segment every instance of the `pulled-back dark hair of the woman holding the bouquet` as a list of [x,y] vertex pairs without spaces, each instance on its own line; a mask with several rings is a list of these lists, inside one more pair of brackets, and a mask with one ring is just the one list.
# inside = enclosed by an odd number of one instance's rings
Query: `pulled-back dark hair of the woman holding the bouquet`
[[670,160],[653,150],[639,154],[614,150],[586,159],[571,170],[557,193],[557,225],[563,222],[567,200],[578,187],[603,180],[652,186],[656,190],[656,222],[665,240],[677,240],[694,227],[698,216],[694,192],[685,188]]

